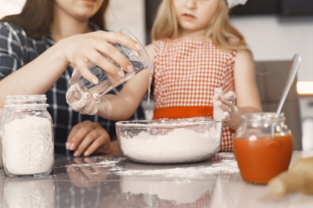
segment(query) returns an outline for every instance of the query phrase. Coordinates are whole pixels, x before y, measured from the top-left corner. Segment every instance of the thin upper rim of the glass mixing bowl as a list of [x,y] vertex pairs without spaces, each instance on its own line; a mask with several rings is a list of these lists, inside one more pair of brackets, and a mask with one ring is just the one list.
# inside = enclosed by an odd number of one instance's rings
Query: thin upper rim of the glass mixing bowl
[[[173,120],[176,123],[165,123],[165,121]],[[181,119],[183,120],[183,119]],[[160,121],[156,124],[146,124],[143,122]],[[173,127],[192,127],[209,123],[221,123],[222,120],[215,119],[195,119],[194,121],[183,121],[179,122],[179,119],[153,119],[153,120],[130,120],[130,121],[117,121],[116,127],[127,127],[127,128],[173,128]]]

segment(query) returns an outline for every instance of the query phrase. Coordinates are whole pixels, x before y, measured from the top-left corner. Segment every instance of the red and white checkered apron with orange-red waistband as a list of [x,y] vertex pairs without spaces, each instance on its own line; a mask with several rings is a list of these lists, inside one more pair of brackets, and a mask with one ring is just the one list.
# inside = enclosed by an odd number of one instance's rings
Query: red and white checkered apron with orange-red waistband
[[[156,40],[153,45],[153,118],[212,118],[214,89],[234,91],[236,52],[190,39]],[[232,151],[232,136],[224,126],[219,151]]]

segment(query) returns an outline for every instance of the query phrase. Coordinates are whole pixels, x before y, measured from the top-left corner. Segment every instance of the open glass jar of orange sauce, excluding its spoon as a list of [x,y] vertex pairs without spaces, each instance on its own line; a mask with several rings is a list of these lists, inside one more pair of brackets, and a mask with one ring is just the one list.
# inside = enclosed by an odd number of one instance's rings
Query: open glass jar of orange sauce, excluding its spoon
[[292,136],[283,113],[242,115],[233,139],[233,153],[246,182],[267,184],[286,171],[292,154]]

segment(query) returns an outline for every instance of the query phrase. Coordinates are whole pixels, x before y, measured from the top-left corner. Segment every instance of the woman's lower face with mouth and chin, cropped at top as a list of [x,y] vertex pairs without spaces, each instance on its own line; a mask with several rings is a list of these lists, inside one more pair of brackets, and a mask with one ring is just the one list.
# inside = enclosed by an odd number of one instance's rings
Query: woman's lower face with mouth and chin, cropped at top
[[103,0],[54,0],[54,3],[55,9],[61,9],[75,19],[86,20],[99,10]]

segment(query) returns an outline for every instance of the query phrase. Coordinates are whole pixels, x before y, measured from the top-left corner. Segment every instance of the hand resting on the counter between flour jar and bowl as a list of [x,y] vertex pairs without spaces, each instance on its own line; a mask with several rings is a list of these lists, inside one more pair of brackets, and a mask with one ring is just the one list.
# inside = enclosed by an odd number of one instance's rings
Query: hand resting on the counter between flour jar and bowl
[[75,151],[74,157],[81,154],[89,156],[95,152],[108,154],[110,152],[110,136],[98,123],[85,120],[71,129],[65,148]]

